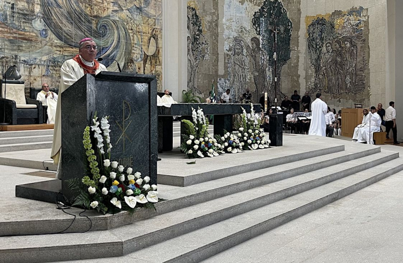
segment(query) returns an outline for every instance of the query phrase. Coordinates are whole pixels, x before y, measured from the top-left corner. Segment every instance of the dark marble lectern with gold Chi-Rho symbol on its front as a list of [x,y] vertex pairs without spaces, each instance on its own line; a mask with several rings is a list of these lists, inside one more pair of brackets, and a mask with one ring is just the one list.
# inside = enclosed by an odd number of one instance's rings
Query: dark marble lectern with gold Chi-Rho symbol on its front
[[[133,167],[133,171],[150,176],[151,184],[157,183],[156,96],[155,76],[114,72],[87,74],[60,95],[63,195],[68,199],[72,196],[65,180],[81,178],[87,172],[83,132],[87,125],[92,125],[95,112],[99,118],[109,116],[111,161]],[[32,188],[38,192],[37,185]],[[54,200],[53,197],[48,202]]]

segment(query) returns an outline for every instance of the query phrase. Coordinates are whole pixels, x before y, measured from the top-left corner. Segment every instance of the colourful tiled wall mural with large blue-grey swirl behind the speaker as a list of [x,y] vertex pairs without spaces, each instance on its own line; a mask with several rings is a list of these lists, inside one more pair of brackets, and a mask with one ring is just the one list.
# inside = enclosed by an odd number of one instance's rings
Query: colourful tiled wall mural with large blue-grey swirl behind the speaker
[[[154,74],[161,90],[161,0],[6,0],[0,6],[1,70],[18,64],[26,87],[58,87],[63,61],[92,37],[97,57],[123,72]],[[117,71],[112,60],[102,61]]]

